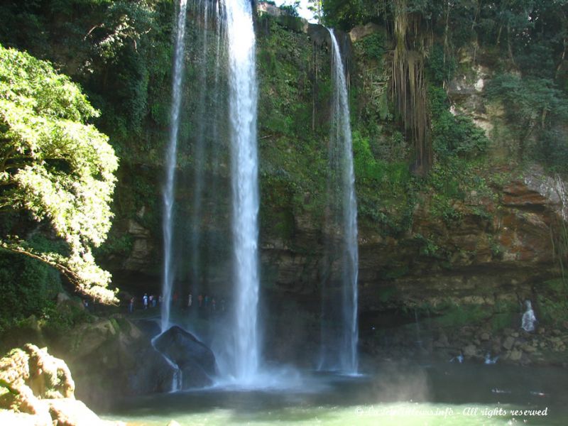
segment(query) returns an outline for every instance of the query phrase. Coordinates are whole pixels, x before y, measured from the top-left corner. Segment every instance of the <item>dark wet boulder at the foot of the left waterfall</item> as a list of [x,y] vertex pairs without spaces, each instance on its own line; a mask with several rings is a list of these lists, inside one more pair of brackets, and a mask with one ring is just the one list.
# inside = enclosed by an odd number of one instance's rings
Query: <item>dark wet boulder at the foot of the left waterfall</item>
[[212,385],[215,356],[193,334],[173,326],[155,339],[154,346],[178,365],[182,371],[183,389]]

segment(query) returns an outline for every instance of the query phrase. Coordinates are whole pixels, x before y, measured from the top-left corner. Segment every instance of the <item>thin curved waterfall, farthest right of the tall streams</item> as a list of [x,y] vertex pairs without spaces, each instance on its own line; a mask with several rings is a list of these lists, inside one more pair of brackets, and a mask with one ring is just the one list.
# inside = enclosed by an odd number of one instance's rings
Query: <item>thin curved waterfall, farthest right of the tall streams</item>
[[355,174],[349,124],[349,99],[347,83],[339,44],[334,31],[332,38],[332,62],[334,79],[333,122],[330,149],[337,150],[337,163],[342,192],[342,328],[339,337],[339,363],[337,368],[344,373],[357,373],[359,340],[357,324],[357,273],[359,253],[357,249],[357,201]]

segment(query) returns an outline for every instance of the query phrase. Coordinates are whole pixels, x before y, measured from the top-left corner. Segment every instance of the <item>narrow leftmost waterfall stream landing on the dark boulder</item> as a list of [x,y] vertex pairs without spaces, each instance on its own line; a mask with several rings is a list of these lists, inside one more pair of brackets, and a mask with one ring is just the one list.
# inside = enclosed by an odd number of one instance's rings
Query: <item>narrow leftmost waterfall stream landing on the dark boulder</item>
[[173,65],[172,106],[170,110],[170,138],[166,152],[166,179],[163,192],[163,233],[164,264],[161,304],[161,329],[165,332],[170,324],[170,303],[173,287],[173,203],[175,187],[175,162],[178,153],[178,133],[180,129],[180,107],[182,104],[182,80],[185,52],[185,19],[187,16],[187,0],[180,0],[178,21],[175,35],[175,51]]

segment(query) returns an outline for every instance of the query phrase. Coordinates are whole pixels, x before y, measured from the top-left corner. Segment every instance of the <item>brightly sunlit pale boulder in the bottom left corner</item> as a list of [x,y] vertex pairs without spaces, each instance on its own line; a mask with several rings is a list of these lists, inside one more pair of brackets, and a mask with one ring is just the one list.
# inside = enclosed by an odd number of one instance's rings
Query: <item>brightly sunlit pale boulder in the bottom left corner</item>
[[0,359],[0,424],[35,426],[102,426],[75,399],[75,383],[61,359],[33,344],[13,349]]

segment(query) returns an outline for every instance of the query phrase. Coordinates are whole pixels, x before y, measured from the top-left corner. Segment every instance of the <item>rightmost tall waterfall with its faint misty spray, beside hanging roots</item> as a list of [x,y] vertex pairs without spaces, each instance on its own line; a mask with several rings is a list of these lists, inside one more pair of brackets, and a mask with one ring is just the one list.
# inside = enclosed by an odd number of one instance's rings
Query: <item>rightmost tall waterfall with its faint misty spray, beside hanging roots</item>
[[[357,249],[357,201],[355,195],[355,174],[349,124],[349,97],[345,70],[339,44],[334,31],[329,30],[332,39],[332,67],[334,97],[332,104],[332,131],[329,153],[332,163],[332,229],[334,257],[341,271],[341,291],[334,300],[328,302],[327,318],[324,312],[326,332],[322,332],[322,361],[325,369],[335,369],[342,373],[357,373],[359,340],[357,324],[357,273],[359,253]],[[337,278],[336,278],[337,279]],[[339,297],[341,300],[339,300]],[[331,312],[331,313],[329,313]],[[338,324],[339,323],[339,324]],[[331,331],[330,331],[331,330]]]

